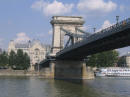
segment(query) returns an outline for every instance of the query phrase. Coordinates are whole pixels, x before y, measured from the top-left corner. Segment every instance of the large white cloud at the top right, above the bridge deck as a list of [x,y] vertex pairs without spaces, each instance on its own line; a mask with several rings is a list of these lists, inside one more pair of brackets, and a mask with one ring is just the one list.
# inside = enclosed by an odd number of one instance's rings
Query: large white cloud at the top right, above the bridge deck
[[117,8],[117,4],[109,0],[105,2],[104,0],[80,0],[77,8],[82,12],[98,12],[98,13],[108,13]]

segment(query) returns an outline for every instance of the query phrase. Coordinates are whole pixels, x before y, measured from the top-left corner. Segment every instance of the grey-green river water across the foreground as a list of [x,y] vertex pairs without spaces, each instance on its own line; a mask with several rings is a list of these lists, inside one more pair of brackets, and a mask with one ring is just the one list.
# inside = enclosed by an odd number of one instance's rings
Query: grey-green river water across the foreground
[[0,97],[130,97],[130,78],[63,81],[0,77]]

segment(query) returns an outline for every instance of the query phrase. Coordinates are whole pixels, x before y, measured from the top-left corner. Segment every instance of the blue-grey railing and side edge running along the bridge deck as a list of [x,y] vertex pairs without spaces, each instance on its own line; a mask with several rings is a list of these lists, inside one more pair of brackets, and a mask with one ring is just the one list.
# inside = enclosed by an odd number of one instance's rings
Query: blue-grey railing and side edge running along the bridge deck
[[121,31],[123,30],[124,28],[126,27],[129,27],[130,26],[130,18],[128,19],[125,19],[119,23],[116,23],[106,29],[102,29],[101,31],[97,32],[97,33],[94,33],[88,37],[86,37],[85,39],[81,40],[81,41],[78,41],[76,42],[73,46],[68,46],[66,47],[65,49],[62,49],[60,52],[66,52],[70,49],[73,49],[73,48],[77,48],[77,47],[80,47],[81,45],[83,45],[84,43],[90,43],[92,41],[95,41],[97,39],[101,39],[103,38],[104,36],[108,36],[108,35],[111,35],[113,33],[116,33],[118,31]]

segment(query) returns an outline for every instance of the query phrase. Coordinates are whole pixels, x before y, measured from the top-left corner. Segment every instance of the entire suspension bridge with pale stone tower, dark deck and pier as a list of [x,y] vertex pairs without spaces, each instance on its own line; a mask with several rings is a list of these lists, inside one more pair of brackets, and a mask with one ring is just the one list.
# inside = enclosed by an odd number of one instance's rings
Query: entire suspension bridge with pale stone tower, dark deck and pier
[[51,24],[52,50],[40,66],[41,71],[48,66],[52,78],[94,78],[84,62],[86,56],[130,45],[130,18],[92,35],[83,31],[82,17],[54,16]]

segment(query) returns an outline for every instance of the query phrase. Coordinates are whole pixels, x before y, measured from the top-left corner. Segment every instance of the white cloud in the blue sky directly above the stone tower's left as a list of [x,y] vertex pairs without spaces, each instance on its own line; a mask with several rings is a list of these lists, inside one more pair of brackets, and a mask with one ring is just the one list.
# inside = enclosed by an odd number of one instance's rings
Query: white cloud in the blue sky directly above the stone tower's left
[[74,4],[64,4],[57,0],[47,2],[44,0],[36,1],[32,4],[31,8],[36,9],[46,16],[50,15],[63,15],[72,11]]

